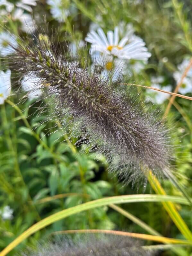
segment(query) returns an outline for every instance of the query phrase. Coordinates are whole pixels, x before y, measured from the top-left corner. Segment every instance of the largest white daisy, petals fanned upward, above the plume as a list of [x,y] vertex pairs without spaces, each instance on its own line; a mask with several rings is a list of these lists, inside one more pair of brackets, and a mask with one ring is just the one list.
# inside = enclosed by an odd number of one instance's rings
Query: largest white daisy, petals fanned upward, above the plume
[[115,27],[114,32],[108,31],[107,37],[101,28],[97,33],[91,31],[85,38],[92,43],[91,53],[99,51],[107,55],[113,55],[120,59],[147,60],[151,53],[144,47],[144,41],[138,36],[126,35],[119,41],[119,28]]

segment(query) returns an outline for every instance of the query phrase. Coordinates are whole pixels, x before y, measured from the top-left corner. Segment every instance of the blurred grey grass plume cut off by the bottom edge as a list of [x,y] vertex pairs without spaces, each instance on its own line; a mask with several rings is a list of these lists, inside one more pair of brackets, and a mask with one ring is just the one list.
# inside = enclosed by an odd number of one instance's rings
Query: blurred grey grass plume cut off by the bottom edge
[[[27,254],[28,255],[28,254]],[[23,256],[27,256],[24,254]],[[30,256],[152,256],[153,251],[143,249],[135,240],[127,237],[102,236],[102,240],[94,236],[85,241],[72,242],[70,240],[59,244],[41,246],[39,251]]]

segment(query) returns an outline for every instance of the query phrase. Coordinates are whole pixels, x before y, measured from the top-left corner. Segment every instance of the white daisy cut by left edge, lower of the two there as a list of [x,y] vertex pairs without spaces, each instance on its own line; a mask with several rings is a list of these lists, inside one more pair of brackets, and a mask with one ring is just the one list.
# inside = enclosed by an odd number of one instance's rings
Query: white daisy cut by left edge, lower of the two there
[[11,93],[11,70],[0,71],[0,104],[10,96]]

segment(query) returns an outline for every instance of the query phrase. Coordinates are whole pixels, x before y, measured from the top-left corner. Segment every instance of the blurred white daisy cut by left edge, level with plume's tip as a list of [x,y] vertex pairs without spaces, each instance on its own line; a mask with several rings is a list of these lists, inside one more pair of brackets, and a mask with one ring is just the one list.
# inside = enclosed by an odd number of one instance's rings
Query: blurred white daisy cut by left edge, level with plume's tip
[[6,56],[13,53],[15,48],[17,47],[18,43],[16,41],[16,36],[13,34],[9,34],[7,32],[2,31],[0,33],[0,55]]

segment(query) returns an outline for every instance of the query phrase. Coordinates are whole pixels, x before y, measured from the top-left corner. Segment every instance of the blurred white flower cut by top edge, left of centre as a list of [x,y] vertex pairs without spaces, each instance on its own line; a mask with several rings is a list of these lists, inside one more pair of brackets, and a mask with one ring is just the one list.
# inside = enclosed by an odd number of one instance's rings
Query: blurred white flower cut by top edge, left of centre
[[51,6],[53,18],[59,22],[65,22],[66,17],[70,15],[69,10],[64,8],[62,0],[47,0],[47,4]]

